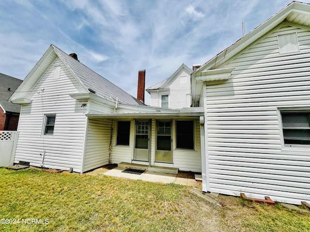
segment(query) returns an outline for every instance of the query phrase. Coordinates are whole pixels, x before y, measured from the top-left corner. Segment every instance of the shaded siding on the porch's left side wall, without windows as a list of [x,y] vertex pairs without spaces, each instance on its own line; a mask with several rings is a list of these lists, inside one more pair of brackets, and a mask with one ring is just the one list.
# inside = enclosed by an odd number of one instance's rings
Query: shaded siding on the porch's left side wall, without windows
[[112,120],[89,120],[83,172],[109,163],[111,129]]

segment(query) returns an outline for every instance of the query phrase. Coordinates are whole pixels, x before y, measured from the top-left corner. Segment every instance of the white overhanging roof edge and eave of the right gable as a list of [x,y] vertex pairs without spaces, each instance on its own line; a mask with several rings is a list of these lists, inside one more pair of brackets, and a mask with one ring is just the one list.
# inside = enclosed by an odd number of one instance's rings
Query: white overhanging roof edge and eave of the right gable
[[[280,10],[277,14],[270,17],[263,22],[257,28],[250,31],[246,36],[239,39],[231,46],[218,53],[214,58],[211,58],[199,69],[191,74],[192,81],[192,97],[194,102],[197,102],[201,91],[201,82],[206,81],[206,75],[212,74],[212,72],[206,72],[208,70],[218,70],[220,72],[221,65],[228,62],[236,54],[247,48],[250,44],[263,37],[265,34],[275,29],[277,26],[293,26],[293,27],[310,27],[310,4],[293,1],[285,8]],[[233,67],[231,67],[233,70]],[[229,73],[226,73],[229,74]],[[202,77],[204,76],[204,77]],[[210,79],[211,80],[211,79]],[[198,84],[200,82],[200,84]],[[196,84],[197,83],[197,84]]]

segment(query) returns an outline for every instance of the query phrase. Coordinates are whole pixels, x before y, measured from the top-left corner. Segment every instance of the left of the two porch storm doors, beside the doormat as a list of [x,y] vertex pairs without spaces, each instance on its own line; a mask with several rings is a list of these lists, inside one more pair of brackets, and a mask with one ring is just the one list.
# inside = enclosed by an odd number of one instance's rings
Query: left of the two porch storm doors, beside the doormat
[[136,121],[134,160],[149,161],[149,121]]

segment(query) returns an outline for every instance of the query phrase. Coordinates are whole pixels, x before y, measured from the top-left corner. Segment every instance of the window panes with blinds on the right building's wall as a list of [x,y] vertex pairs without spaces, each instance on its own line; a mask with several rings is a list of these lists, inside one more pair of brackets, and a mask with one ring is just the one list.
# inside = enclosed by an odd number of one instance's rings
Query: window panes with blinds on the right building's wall
[[281,112],[285,145],[310,145],[310,112]]

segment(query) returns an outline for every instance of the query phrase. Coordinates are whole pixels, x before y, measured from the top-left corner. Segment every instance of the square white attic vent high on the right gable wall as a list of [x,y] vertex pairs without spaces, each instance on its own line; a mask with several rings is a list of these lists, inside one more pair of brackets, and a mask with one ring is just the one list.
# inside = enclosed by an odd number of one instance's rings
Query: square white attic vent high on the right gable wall
[[296,33],[278,35],[279,54],[298,52],[298,43]]

